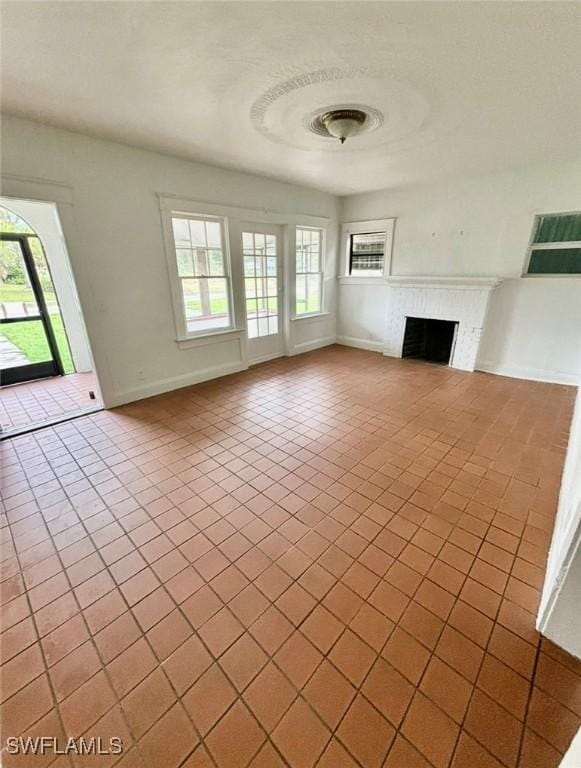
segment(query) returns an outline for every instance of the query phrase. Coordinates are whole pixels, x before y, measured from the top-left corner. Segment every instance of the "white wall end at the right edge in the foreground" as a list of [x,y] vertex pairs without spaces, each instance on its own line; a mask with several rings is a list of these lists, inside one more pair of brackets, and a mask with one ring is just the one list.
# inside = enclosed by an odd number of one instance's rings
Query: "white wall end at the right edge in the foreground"
[[567,447],[559,507],[537,626],[581,658],[581,388]]

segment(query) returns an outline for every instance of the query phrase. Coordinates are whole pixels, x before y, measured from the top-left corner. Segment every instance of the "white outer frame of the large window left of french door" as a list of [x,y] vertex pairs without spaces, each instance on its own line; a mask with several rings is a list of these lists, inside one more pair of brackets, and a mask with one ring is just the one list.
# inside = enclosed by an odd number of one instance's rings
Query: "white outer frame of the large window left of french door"
[[[182,291],[182,278],[178,273],[176,244],[173,234],[174,218],[195,219],[198,221],[212,221],[220,225],[222,235],[222,248],[224,255],[224,277],[226,278],[226,291],[228,294],[228,324],[220,328],[204,328],[199,331],[188,330],[186,319],[186,310],[184,306],[184,295]],[[166,241],[166,259],[170,278],[170,288],[172,292],[172,304],[176,324],[176,333],[178,341],[187,341],[189,339],[199,339],[206,336],[217,336],[221,333],[229,333],[234,328],[234,296],[232,291],[232,264],[230,258],[230,238],[228,233],[228,219],[226,216],[213,216],[208,213],[196,213],[194,211],[184,210],[163,210],[162,221]]]

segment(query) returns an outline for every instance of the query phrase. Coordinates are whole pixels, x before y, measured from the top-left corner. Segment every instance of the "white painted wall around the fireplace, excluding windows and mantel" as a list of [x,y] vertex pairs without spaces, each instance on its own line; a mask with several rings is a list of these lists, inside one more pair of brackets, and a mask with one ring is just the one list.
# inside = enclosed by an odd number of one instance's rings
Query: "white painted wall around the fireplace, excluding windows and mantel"
[[[343,199],[341,220],[395,216],[393,275],[499,275],[479,368],[577,383],[581,278],[521,278],[533,217],[581,210],[581,162],[385,190]],[[381,349],[387,289],[339,284],[339,340]]]

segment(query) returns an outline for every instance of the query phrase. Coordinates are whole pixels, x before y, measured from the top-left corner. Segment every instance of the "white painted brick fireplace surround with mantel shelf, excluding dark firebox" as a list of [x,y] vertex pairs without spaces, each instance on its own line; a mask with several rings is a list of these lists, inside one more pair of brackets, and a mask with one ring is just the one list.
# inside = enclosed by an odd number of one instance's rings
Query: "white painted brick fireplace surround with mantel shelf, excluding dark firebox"
[[393,276],[389,288],[384,355],[401,357],[406,318],[458,323],[450,366],[473,371],[491,292],[499,277]]

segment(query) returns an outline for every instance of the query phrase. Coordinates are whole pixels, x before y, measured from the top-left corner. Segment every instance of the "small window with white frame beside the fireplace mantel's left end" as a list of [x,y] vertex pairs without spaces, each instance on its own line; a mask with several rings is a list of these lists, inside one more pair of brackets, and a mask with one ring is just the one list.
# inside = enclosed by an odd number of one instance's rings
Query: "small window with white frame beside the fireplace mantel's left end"
[[344,274],[351,277],[390,274],[393,222],[393,219],[381,219],[343,225]]

